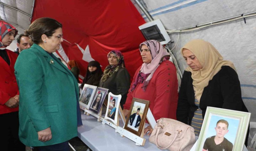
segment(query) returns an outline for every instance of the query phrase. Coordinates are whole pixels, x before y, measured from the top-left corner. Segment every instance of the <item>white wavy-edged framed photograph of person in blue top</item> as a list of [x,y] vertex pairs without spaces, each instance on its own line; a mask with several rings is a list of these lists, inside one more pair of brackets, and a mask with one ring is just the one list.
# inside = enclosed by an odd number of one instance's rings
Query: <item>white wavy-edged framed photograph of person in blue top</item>
[[112,121],[115,125],[117,125],[121,97],[121,95],[114,95],[111,92],[108,93],[107,110],[104,118]]

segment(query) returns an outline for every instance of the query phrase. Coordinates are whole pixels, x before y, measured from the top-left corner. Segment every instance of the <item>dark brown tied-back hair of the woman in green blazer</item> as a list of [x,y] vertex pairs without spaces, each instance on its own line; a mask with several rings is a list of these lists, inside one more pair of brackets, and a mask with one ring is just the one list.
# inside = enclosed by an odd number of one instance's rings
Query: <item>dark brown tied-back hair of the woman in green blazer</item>
[[53,18],[42,17],[32,22],[25,34],[30,35],[31,41],[35,44],[42,43],[41,36],[45,34],[50,37],[55,33],[55,30],[62,28],[62,24]]

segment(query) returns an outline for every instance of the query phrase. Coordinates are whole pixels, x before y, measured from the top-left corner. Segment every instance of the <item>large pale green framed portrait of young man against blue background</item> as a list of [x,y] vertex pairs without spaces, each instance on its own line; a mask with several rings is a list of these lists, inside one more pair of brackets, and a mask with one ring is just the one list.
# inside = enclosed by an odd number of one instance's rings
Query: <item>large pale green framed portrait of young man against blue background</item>
[[251,113],[207,107],[195,150],[243,150]]

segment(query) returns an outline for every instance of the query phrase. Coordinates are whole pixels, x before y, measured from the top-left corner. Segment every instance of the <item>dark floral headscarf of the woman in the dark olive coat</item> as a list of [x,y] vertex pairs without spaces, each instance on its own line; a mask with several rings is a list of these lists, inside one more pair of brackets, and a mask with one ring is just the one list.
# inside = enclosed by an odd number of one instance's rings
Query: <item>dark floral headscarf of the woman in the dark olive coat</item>
[[103,76],[101,78],[102,82],[105,82],[109,77],[112,77],[120,68],[125,68],[124,64],[124,56],[119,50],[112,50],[107,54],[107,58],[109,57],[110,53],[113,53],[117,57],[117,65],[107,65],[104,72]]

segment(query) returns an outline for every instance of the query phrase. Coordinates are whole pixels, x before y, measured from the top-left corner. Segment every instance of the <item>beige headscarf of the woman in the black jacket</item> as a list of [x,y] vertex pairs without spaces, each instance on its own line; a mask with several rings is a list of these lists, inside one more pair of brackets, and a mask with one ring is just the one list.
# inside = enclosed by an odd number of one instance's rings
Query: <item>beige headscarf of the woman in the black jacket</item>
[[223,60],[223,57],[218,50],[207,41],[201,39],[189,41],[183,48],[181,48],[182,56],[183,49],[190,50],[202,65],[202,69],[198,71],[192,70],[191,67],[185,69],[192,73],[191,78],[193,79],[195,98],[198,101],[200,101],[204,87],[208,86],[209,81],[220,71],[222,66],[230,66],[235,70],[234,64],[230,61]]

